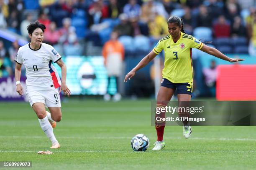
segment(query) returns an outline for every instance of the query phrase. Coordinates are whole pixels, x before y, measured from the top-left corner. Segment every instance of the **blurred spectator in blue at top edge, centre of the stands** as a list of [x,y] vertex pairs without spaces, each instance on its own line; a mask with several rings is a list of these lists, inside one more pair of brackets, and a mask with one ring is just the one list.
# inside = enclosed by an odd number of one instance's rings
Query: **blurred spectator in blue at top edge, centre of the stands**
[[128,18],[135,18],[141,14],[141,6],[137,4],[137,0],[129,0],[129,3],[123,7],[123,13],[125,13]]

